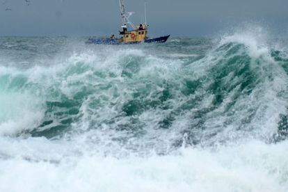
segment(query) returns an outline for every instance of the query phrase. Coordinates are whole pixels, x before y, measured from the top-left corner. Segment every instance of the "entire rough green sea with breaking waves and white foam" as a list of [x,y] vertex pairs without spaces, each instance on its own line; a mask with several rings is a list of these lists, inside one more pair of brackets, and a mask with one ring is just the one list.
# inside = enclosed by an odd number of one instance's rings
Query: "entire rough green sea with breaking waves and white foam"
[[288,41],[0,38],[0,191],[288,191]]

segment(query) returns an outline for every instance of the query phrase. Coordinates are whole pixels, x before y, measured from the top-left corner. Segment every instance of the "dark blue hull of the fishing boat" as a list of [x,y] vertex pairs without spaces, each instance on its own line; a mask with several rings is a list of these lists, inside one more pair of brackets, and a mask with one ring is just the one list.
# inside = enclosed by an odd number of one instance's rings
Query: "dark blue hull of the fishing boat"
[[[170,35],[163,36],[160,38],[154,38],[154,39],[147,39],[144,42],[145,43],[159,43],[159,42],[166,42]],[[119,42],[118,39],[111,39],[111,38],[89,38],[86,41],[86,44],[96,44],[96,45],[127,45],[127,44],[136,44],[141,42]]]

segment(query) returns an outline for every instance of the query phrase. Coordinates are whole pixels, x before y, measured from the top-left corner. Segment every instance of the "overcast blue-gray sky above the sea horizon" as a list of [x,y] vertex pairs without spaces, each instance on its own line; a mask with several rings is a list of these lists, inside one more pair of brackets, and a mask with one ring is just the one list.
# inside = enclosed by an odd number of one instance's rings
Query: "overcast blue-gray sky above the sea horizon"
[[[120,29],[118,0],[30,1],[0,0],[0,35],[106,35]],[[139,24],[144,0],[125,4]],[[287,35],[287,8],[288,0],[147,0],[147,20],[150,35],[211,36],[243,22]]]

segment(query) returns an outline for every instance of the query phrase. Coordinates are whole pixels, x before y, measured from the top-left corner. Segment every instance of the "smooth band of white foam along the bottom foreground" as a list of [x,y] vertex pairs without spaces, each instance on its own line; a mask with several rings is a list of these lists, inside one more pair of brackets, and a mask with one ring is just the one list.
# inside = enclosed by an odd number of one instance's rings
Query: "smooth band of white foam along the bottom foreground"
[[[59,158],[64,143],[29,142],[32,150],[22,152],[27,141],[18,142],[14,147],[20,155],[0,161],[1,191],[288,190],[287,142],[267,145],[250,141],[216,151],[195,148],[184,149],[180,154],[120,159],[69,153],[68,157]],[[38,158],[42,155],[43,159],[35,161],[33,154]]]

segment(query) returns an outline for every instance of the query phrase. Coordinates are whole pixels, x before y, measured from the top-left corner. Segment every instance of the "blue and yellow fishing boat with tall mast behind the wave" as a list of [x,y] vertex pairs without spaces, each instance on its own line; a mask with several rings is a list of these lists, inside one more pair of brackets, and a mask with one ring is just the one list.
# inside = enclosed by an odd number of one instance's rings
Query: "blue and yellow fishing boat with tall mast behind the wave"
[[125,12],[124,0],[119,0],[120,15],[122,19],[122,31],[119,31],[119,38],[111,35],[109,38],[89,38],[86,44],[102,44],[102,45],[123,45],[136,43],[166,42],[170,35],[159,38],[148,38],[148,24],[146,19],[146,2],[145,2],[145,23],[135,26],[129,19],[133,12]]

